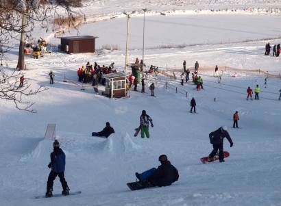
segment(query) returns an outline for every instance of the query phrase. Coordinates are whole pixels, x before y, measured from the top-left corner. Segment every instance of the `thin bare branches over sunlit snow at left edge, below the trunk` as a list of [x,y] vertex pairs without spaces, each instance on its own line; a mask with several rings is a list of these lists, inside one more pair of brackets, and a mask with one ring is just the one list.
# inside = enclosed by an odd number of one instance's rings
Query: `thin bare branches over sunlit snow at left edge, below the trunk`
[[18,71],[7,72],[2,69],[0,75],[0,99],[12,101],[19,110],[36,113],[37,111],[32,109],[34,102],[29,101],[29,97],[48,90],[48,88],[40,86],[33,90],[27,79],[24,79],[23,86],[19,86],[23,73]]

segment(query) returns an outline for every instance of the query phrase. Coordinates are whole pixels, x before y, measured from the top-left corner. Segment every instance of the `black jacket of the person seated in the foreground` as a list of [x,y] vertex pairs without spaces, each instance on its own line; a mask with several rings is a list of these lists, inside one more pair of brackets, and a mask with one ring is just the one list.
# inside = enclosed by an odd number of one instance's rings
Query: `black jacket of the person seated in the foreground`
[[171,164],[171,162],[163,162],[158,168],[151,174],[148,181],[158,187],[168,186],[171,183],[178,181],[178,170]]

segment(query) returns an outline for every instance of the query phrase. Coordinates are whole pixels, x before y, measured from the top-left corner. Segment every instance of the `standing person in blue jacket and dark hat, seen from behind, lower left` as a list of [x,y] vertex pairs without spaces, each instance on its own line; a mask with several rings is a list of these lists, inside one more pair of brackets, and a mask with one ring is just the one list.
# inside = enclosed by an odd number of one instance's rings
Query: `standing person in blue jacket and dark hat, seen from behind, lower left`
[[69,195],[69,186],[64,179],[65,154],[62,149],[60,149],[58,140],[53,142],[53,152],[51,153],[51,162],[49,163],[48,168],[51,168],[51,172],[48,177],[47,192],[45,196],[53,196],[53,181],[57,176],[60,178],[60,183],[62,183],[62,195]]

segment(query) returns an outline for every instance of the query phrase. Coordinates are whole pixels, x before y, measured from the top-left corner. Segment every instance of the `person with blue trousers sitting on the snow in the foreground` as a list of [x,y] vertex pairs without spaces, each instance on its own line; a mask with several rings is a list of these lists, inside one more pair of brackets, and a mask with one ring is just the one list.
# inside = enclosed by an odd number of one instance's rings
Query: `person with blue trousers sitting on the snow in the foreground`
[[158,187],[169,186],[178,181],[178,170],[169,162],[167,155],[160,155],[158,158],[161,165],[158,168],[151,168],[143,173],[136,172],[136,177],[144,185],[154,185]]

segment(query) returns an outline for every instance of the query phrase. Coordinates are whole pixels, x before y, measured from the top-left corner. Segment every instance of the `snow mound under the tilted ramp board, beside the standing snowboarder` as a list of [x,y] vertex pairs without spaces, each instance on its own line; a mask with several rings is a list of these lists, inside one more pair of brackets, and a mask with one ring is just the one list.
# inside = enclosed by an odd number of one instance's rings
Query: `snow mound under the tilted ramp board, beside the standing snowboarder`
[[48,162],[49,154],[51,153],[53,148],[53,142],[51,140],[41,140],[38,142],[36,148],[29,154],[21,157],[21,162]]

